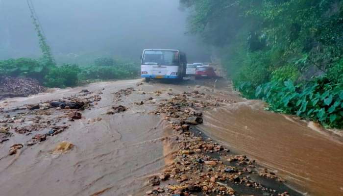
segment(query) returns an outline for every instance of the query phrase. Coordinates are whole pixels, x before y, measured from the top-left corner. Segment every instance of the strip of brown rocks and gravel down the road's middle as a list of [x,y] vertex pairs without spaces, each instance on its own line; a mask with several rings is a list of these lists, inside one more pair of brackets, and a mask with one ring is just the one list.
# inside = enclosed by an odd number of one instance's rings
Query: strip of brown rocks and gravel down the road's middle
[[256,169],[255,161],[245,155],[234,155],[211,139],[197,136],[195,125],[203,123],[202,111],[220,106],[219,102],[226,100],[193,91],[173,95],[159,104],[154,114],[161,115],[178,133],[176,141],[179,151],[170,166],[149,180],[152,190],[147,191],[146,195],[234,196],[242,194],[235,190],[240,187],[240,192],[249,190],[259,195],[289,196],[287,192],[269,189],[251,179],[251,175],[271,178],[275,173],[262,170],[261,174]]

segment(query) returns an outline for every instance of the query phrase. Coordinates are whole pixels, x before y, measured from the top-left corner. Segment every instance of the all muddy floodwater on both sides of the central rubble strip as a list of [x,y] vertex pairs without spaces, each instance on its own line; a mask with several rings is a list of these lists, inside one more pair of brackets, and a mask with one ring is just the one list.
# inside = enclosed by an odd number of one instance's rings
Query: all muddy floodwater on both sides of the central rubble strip
[[[94,107],[82,112],[82,119],[64,122],[70,128],[47,141],[25,146],[12,156],[8,155],[10,146],[25,143],[32,135],[14,133],[0,144],[0,196],[144,195],[142,189],[147,187],[148,177],[168,165],[176,150],[175,133],[152,112],[162,99],[168,98],[168,92],[192,90],[230,100],[204,112],[204,123],[197,128],[206,135],[275,171],[304,195],[343,195],[341,136],[315,123],[265,111],[262,101],[241,98],[224,80],[216,84],[212,80],[181,84],[142,81],[100,82],[1,101],[1,110],[11,111],[25,104],[79,94],[82,89],[101,96]],[[134,92],[119,100],[115,93],[126,88]],[[156,95],[154,91],[161,93]],[[141,101],[144,104],[137,104]],[[118,103],[127,110],[107,115],[106,111]],[[6,114],[12,116],[20,111]],[[53,121],[56,117],[52,113],[42,118]],[[31,120],[26,118],[25,123]],[[61,141],[72,143],[74,148],[52,154]]]

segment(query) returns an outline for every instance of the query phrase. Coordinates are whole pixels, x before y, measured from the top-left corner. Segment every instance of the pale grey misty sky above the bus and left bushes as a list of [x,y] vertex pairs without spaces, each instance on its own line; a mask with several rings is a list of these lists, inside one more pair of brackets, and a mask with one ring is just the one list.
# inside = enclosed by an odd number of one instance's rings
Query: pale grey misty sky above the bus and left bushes
[[[32,0],[56,59],[137,58],[145,48],[182,49],[206,61],[206,47],[185,35],[179,0]],[[0,58],[40,55],[26,0],[0,0]],[[70,55],[69,55],[70,57]],[[95,57],[94,57],[95,58]]]

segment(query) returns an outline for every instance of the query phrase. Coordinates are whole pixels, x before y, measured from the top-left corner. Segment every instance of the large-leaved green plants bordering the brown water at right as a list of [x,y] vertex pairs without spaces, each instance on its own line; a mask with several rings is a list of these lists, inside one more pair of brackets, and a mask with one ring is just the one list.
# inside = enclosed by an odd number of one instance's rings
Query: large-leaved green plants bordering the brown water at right
[[257,87],[255,96],[270,103],[270,110],[343,127],[343,85],[326,77],[299,85],[291,80],[271,81]]

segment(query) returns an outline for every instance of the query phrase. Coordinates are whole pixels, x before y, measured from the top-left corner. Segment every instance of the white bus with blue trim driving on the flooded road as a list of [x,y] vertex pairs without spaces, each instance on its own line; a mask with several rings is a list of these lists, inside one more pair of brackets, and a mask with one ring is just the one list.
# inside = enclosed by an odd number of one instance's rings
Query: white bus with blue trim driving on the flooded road
[[182,80],[186,74],[186,54],[177,49],[145,49],[142,55],[141,75],[150,78]]

